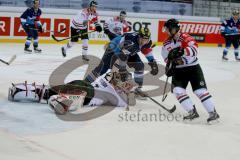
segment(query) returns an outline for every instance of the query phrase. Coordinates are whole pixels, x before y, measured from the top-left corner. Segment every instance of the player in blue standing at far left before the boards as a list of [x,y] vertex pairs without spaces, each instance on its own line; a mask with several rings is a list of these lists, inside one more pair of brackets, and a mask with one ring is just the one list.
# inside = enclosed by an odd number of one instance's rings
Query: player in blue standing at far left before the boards
[[33,0],[33,7],[28,8],[21,15],[21,24],[27,34],[27,40],[25,43],[25,53],[32,53],[30,45],[33,39],[33,48],[36,53],[40,53],[42,50],[38,48],[38,32],[43,32],[42,24],[40,22],[40,16],[42,14],[39,8],[39,0]]

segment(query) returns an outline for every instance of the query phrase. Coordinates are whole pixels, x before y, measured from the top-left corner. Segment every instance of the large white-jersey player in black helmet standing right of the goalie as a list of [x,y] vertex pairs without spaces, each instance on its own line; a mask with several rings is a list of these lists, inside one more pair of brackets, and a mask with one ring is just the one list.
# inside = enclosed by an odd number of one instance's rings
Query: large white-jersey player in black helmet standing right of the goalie
[[185,120],[199,117],[195,106],[187,94],[186,88],[191,83],[194,94],[201,100],[209,113],[208,122],[219,118],[212,96],[207,90],[204,74],[197,58],[197,42],[192,36],[181,33],[179,22],[169,19],[164,24],[168,39],[162,47],[162,57],[167,63],[166,75],[172,76],[172,91],[182,107],[189,113]]

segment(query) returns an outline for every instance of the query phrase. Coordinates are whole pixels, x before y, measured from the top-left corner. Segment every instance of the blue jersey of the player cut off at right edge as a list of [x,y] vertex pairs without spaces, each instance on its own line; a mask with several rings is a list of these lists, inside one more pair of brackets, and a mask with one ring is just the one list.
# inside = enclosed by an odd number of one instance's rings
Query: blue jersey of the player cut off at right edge
[[221,33],[223,34],[237,34],[240,29],[240,20],[235,21],[233,17],[223,21],[221,25]]

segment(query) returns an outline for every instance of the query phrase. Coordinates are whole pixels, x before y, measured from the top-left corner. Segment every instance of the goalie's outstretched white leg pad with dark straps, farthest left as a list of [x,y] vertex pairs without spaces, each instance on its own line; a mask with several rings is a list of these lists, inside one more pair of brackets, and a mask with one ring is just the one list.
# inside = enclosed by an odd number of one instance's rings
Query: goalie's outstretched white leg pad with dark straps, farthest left
[[44,102],[42,98],[47,89],[48,86],[44,84],[36,85],[35,82],[27,84],[26,81],[25,83],[12,84],[12,87],[8,90],[8,100],[19,102]]

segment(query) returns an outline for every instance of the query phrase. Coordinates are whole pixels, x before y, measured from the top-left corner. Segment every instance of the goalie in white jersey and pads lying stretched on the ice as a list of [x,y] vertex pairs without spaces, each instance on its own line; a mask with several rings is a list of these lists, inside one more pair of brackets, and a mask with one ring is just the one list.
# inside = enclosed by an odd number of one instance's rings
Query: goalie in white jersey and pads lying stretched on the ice
[[132,96],[133,86],[132,80],[122,82],[119,73],[109,72],[91,84],[83,80],[74,80],[54,87],[27,84],[27,82],[12,84],[9,88],[8,100],[48,102],[57,114],[65,114],[82,105],[110,104],[116,107],[135,105],[135,98]]

